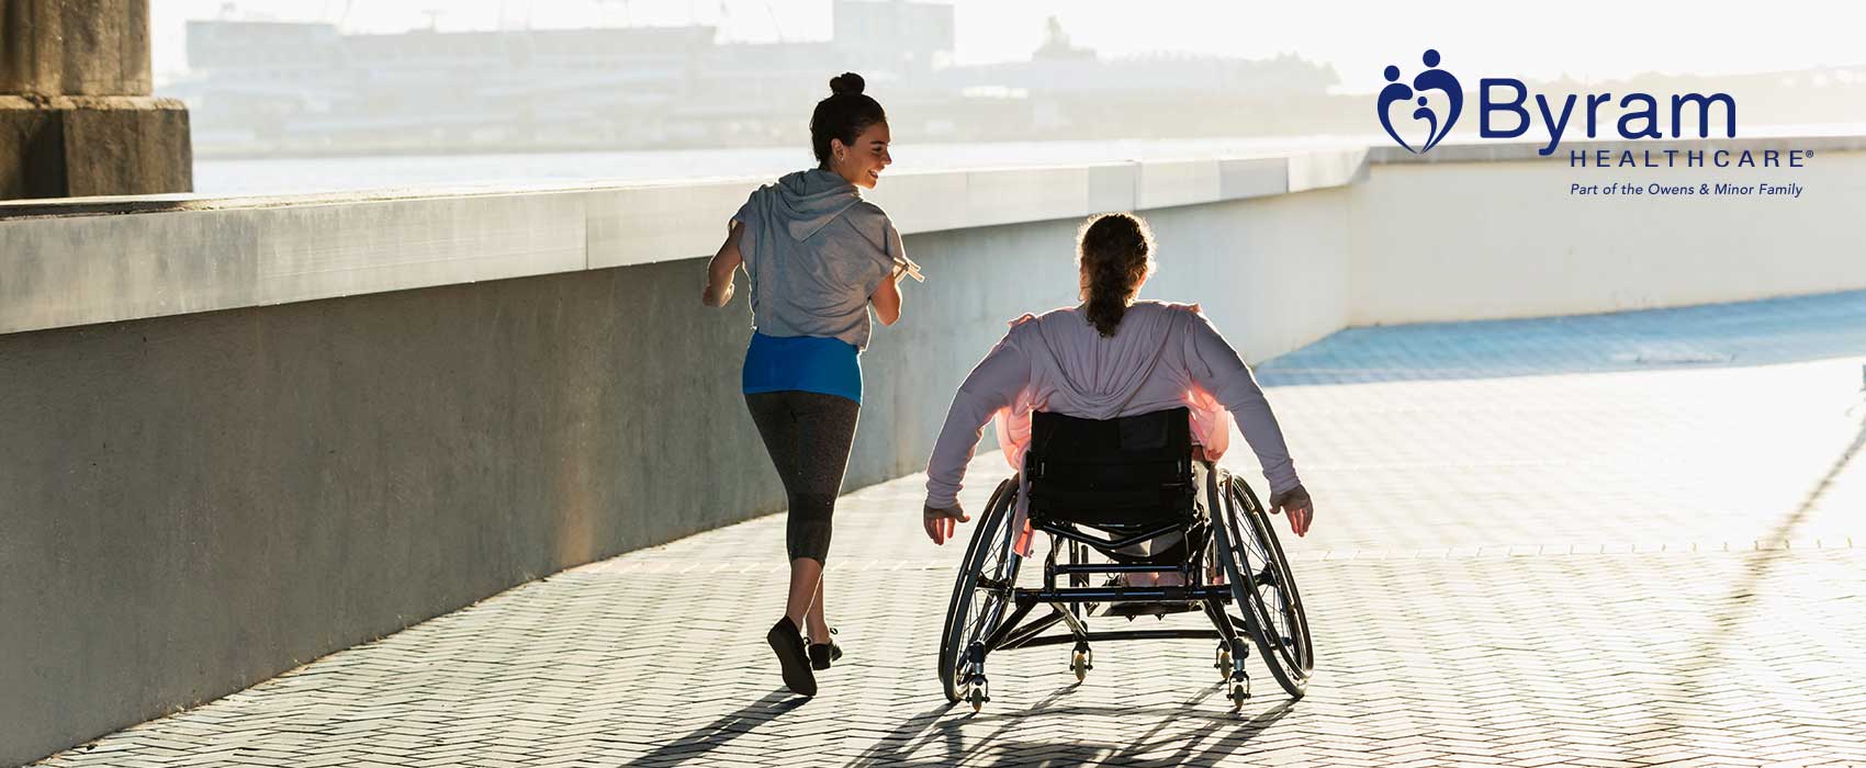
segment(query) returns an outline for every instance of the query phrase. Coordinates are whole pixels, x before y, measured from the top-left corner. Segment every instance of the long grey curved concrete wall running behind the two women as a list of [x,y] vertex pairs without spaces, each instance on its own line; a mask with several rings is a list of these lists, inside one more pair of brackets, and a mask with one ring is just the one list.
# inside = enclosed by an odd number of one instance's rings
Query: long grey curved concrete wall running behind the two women
[[[187,311],[187,285],[252,285],[228,270],[254,263],[341,280],[362,274],[345,257],[377,254],[377,272],[427,280],[422,255],[446,244],[407,250],[425,227],[476,242],[481,268],[580,267],[593,237],[549,224],[567,209],[582,222],[582,199],[397,201],[369,227],[315,205],[39,218],[0,240],[37,254],[15,267],[47,265],[7,272],[11,291],[21,274],[43,291],[52,254],[82,242],[166,248],[65,263],[99,287],[65,304],[147,281],[181,298],[160,309]],[[1258,356],[1312,341],[1345,319],[1345,229],[1323,224],[1345,211],[1342,188],[1151,211],[1163,268],[1148,295],[1202,300]],[[321,226],[328,248],[263,237],[267,216]],[[1006,321],[1073,304],[1077,224],[907,237],[933,280],[909,285],[907,319],[864,358],[847,487],[924,468]],[[226,254],[190,259],[205,235]],[[750,313],[743,296],[702,308],[700,281],[702,261],[679,259],[0,336],[0,764],[782,509],[737,391]]]

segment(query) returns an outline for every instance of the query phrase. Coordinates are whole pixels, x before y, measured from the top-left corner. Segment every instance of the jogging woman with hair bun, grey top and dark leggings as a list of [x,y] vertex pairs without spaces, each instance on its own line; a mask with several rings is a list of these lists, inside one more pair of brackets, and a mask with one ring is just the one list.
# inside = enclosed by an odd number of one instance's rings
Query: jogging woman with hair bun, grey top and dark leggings
[[862,88],[855,73],[830,80],[810,116],[817,166],[752,192],[707,265],[702,296],[726,306],[745,267],[754,326],[745,405],[789,500],[789,597],[765,639],[784,684],[802,695],[817,692],[812,669],[842,656],[823,617],[823,561],[862,410],[870,308],[881,324],[899,321],[899,280],[916,272],[894,222],[860,194],[894,162],[888,116]]

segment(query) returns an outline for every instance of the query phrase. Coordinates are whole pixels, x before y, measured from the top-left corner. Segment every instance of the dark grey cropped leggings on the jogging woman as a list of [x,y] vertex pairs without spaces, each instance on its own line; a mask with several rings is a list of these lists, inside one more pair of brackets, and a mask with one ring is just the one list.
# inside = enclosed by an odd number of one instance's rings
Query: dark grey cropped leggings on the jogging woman
[[842,473],[849,468],[855,419],[862,405],[815,391],[759,391],[745,395],[771,464],[778,468],[791,514],[784,544],[791,559],[829,557],[829,520],[836,514]]

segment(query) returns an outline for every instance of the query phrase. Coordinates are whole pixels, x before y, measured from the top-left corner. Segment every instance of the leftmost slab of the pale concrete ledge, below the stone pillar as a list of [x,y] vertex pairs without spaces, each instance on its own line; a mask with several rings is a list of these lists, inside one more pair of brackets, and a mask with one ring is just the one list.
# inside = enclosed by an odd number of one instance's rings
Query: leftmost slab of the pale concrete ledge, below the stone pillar
[[584,224],[580,196],[0,222],[0,328],[580,270]]

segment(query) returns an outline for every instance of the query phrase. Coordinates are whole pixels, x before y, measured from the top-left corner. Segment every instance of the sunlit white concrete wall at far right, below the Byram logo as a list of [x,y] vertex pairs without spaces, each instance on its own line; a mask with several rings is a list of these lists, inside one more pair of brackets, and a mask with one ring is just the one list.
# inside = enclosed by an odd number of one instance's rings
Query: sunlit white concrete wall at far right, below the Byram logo
[[[1773,144],[1816,142],[1735,145]],[[1851,144],[1827,142],[1799,170],[1577,170],[1560,153],[1375,162],[1353,186],[1349,322],[1577,315],[1866,287],[1866,151]],[[1806,192],[1569,194],[1573,183],[1719,181],[1793,181]]]

